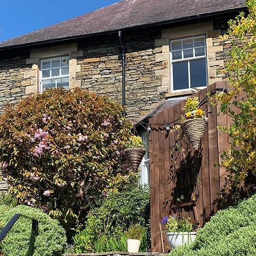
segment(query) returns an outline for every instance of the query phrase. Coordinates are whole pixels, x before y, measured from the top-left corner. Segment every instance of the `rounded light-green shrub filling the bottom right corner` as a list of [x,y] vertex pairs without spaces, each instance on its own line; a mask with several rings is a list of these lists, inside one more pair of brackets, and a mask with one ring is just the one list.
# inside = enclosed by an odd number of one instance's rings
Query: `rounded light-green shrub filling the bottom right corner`
[[172,251],[170,256],[237,256],[256,254],[256,195],[236,207],[218,211],[195,242]]

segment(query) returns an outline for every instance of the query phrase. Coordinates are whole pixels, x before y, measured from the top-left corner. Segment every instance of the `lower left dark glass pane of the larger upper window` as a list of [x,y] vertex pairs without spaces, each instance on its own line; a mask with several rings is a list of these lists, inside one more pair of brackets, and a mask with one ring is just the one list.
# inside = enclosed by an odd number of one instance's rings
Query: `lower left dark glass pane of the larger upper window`
[[188,89],[188,61],[172,63],[174,90]]

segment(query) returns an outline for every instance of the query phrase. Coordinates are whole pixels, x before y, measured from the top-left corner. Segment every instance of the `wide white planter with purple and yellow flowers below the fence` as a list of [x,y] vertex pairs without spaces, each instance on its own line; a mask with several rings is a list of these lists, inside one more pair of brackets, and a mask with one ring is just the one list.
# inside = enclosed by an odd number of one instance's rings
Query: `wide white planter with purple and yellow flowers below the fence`
[[196,239],[196,226],[189,220],[177,214],[163,218],[162,224],[166,226],[167,240],[172,249],[179,245],[189,245]]

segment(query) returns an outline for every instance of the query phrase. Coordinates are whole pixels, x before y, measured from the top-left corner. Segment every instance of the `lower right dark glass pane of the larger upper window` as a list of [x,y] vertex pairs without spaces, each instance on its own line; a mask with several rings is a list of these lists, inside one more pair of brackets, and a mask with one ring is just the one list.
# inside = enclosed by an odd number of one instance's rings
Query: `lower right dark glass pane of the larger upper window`
[[191,60],[190,61],[191,88],[207,86],[206,61]]

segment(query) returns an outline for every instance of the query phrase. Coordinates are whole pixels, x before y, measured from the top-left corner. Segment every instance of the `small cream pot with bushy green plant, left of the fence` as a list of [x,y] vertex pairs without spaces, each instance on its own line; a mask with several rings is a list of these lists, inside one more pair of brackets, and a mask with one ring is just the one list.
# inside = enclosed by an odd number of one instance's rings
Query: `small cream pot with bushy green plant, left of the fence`
[[127,237],[127,251],[129,253],[138,253],[142,237],[146,234],[146,228],[139,224],[134,224],[130,226],[125,234]]

